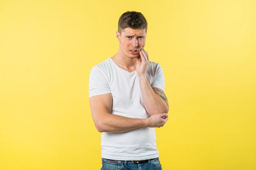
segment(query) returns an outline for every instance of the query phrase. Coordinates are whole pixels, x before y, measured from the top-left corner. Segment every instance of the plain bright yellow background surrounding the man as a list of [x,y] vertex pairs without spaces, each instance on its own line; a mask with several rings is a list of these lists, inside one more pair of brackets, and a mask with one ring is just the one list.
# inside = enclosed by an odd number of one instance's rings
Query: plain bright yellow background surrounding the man
[[100,169],[88,77],[126,11],[166,78],[163,169],[256,170],[256,2],[156,2],[0,0],[0,170]]

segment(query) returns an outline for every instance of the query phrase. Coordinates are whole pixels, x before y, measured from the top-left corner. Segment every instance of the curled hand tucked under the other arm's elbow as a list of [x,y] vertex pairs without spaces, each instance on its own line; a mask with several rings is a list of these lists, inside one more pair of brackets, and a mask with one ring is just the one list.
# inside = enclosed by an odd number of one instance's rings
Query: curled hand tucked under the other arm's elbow
[[148,118],[148,127],[163,127],[167,120],[167,113],[154,114]]

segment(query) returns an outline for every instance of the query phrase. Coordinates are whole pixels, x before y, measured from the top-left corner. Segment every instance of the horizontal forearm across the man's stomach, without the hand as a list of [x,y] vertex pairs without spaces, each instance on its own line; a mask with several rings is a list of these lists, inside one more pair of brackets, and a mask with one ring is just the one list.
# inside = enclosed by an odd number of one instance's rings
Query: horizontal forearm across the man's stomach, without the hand
[[127,118],[110,113],[104,114],[99,120],[101,121],[95,122],[99,132],[122,133],[148,126],[147,119]]

